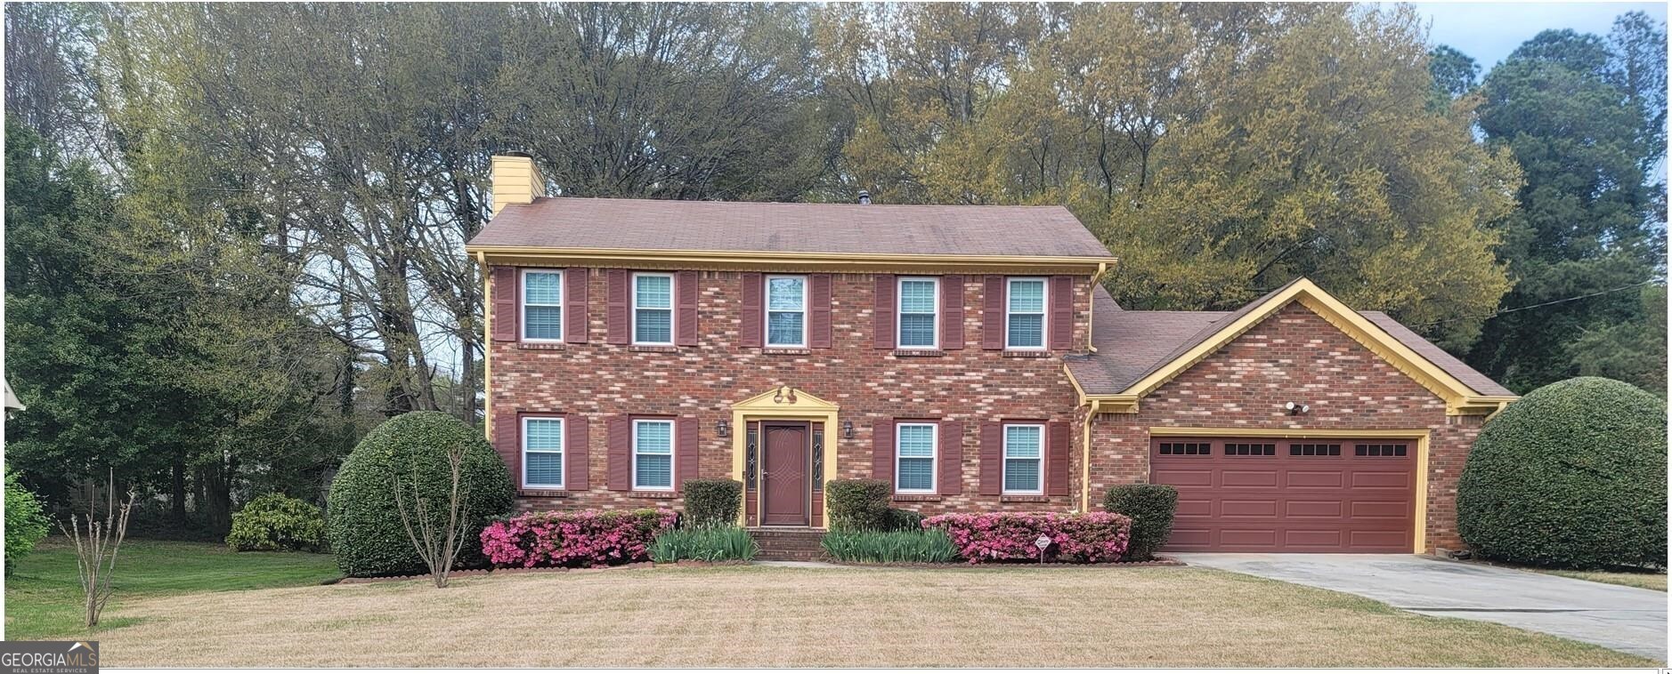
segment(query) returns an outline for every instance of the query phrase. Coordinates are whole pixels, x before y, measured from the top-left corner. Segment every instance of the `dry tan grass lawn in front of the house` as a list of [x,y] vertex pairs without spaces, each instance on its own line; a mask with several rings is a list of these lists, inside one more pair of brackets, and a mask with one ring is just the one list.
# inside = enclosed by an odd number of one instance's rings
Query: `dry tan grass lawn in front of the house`
[[144,599],[112,667],[1649,666],[1209,569],[655,567]]

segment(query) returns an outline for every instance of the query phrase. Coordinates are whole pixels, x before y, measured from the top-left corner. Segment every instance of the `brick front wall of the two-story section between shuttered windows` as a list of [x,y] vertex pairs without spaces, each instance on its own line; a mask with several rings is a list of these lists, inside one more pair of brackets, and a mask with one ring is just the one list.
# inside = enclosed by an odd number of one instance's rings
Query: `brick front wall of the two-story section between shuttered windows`
[[[895,355],[873,347],[869,274],[833,275],[833,349],[772,354],[737,345],[741,274],[699,272],[696,347],[629,347],[605,344],[607,280],[589,275],[589,344],[522,345],[492,342],[495,415],[522,412],[582,414],[590,419],[585,492],[522,494],[522,509],[682,507],[677,497],[652,497],[607,489],[605,417],[617,414],[694,415],[699,422],[699,472],[731,477],[732,439],[716,435],[716,422],[731,422],[731,404],[779,385],[793,385],[841,405],[853,439],[826,429],[836,442],[839,477],[871,477],[871,425],[890,417],[960,419],[965,422],[963,494],[941,500],[903,500],[898,507],[926,514],[948,511],[1068,511],[1078,507],[1080,425],[1072,425],[1070,495],[1045,502],[1002,502],[976,495],[980,475],[978,424],[997,419],[1075,419],[1075,394],[1060,355],[1007,357],[981,349],[981,275],[966,274],[963,287],[965,349],[945,355]],[[1073,284],[1073,345],[1087,342],[1088,277]],[[732,429],[742,434],[744,429]],[[573,442],[573,439],[572,439]],[[513,475],[515,479],[515,475]],[[915,497],[920,499],[920,497]]]

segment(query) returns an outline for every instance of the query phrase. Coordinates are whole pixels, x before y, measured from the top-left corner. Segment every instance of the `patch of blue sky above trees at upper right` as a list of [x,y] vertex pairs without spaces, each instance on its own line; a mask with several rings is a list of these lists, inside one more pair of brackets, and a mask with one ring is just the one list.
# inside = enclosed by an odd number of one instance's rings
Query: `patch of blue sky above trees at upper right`
[[1667,5],[1655,2],[1418,2],[1431,22],[1430,43],[1450,45],[1481,67],[1481,75],[1522,42],[1548,28],[1607,35],[1613,17],[1644,12],[1665,22]]

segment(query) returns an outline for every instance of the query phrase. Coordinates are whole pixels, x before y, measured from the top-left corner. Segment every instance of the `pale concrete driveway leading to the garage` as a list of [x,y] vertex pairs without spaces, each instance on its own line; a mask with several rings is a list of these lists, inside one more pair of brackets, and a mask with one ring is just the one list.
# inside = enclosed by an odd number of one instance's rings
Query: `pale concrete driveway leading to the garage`
[[1409,554],[1175,552],[1185,564],[1376,599],[1425,616],[1501,622],[1667,659],[1667,594]]

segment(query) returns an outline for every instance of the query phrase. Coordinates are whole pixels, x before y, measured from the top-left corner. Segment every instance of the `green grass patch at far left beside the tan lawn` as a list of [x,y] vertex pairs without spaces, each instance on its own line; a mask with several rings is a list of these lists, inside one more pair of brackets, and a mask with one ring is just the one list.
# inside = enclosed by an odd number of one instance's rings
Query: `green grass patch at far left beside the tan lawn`
[[[328,554],[232,552],[207,542],[139,541],[122,542],[112,587],[97,634],[144,621],[142,612],[124,614],[135,601],[194,592],[264,587],[318,586],[339,577]],[[42,541],[5,579],[5,637],[85,637],[82,589],[75,574],[75,549],[69,541]],[[97,637],[97,636],[95,636]]]

